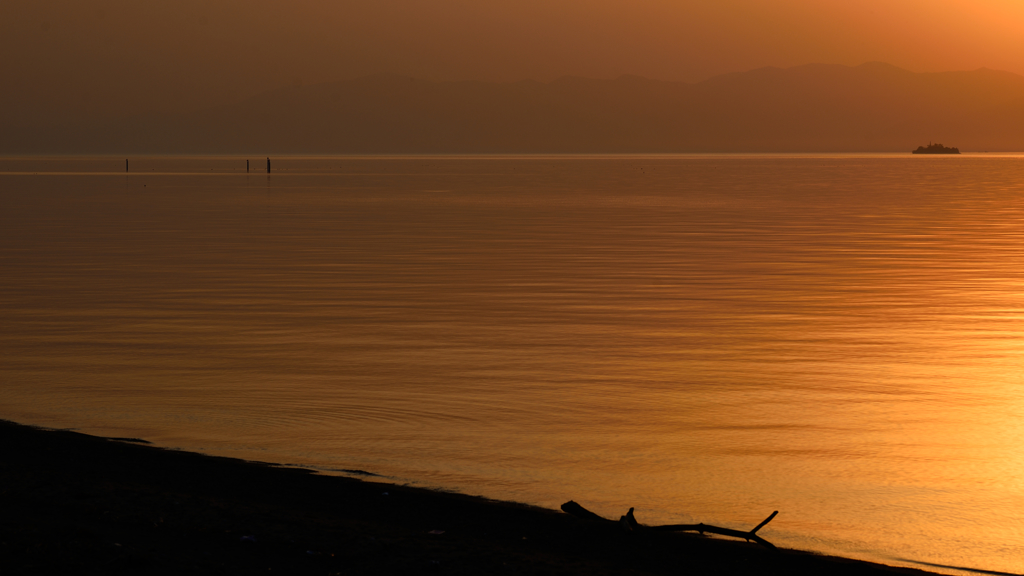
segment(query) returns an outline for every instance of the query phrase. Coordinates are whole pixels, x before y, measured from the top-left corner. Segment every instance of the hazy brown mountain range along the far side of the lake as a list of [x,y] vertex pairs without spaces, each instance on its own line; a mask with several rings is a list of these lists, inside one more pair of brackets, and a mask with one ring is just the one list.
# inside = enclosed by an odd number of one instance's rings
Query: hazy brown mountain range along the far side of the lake
[[764,68],[687,84],[371,76],[175,117],[6,126],[0,152],[642,153],[1024,151],[1024,77],[886,64]]

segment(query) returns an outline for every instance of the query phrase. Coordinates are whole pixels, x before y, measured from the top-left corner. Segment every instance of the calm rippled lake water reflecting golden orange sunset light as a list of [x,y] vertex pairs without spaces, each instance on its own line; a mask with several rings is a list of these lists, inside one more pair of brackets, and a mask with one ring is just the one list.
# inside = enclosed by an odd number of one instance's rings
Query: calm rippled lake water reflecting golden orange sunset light
[[0,417],[1024,572],[1024,158],[252,160],[0,159]]

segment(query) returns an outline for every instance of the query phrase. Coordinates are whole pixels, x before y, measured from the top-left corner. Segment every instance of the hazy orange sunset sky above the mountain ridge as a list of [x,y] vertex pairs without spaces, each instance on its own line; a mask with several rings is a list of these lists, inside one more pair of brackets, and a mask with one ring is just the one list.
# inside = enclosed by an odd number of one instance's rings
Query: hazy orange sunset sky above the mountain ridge
[[178,111],[374,73],[696,81],[887,61],[1024,74],[1019,0],[4,0],[0,122]]

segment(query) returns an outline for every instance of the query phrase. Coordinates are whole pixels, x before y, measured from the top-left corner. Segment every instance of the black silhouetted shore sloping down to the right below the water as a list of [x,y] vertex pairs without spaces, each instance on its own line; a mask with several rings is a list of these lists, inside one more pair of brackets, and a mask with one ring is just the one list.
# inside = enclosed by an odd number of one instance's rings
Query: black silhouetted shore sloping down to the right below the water
[[0,420],[0,572],[930,574],[143,443]]

